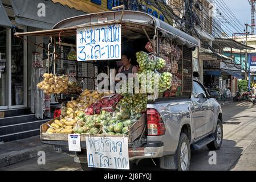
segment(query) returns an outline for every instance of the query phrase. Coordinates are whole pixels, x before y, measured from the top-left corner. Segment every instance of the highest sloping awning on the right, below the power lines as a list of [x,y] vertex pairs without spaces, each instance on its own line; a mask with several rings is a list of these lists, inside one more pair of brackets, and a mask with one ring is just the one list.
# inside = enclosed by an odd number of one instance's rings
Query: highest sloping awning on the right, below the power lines
[[234,49],[249,49],[249,50],[255,50],[254,47],[245,46],[244,44],[241,44],[233,39],[225,39],[225,38],[215,38],[213,42],[214,48],[234,48]]

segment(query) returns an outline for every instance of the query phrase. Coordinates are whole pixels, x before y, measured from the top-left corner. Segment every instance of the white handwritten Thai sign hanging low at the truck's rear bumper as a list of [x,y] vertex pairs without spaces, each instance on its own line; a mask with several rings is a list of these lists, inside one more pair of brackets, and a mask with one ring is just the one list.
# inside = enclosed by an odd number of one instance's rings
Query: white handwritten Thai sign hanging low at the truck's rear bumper
[[128,138],[86,137],[88,167],[129,169]]

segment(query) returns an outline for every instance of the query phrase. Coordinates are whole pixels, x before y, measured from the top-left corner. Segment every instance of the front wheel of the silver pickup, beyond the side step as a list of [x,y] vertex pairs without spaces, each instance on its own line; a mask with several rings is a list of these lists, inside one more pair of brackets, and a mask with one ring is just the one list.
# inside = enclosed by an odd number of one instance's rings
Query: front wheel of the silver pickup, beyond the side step
[[214,141],[209,143],[207,147],[209,150],[219,150],[223,140],[223,125],[220,119],[218,119],[216,131],[214,133]]

